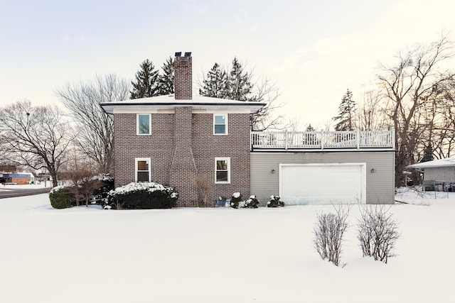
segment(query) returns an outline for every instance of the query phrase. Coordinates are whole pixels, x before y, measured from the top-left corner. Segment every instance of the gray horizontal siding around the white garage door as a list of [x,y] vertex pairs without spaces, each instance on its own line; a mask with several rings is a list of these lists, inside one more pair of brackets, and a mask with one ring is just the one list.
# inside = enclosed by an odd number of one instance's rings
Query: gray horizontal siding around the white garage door
[[[264,204],[272,194],[279,194],[279,163],[348,163],[366,162],[367,204],[392,204],[395,197],[394,152],[349,153],[251,153],[251,194]],[[372,173],[371,170],[375,169]],[[272,173],[274,170],[274,173]],[[327,184],[330,186],[330,176]]]

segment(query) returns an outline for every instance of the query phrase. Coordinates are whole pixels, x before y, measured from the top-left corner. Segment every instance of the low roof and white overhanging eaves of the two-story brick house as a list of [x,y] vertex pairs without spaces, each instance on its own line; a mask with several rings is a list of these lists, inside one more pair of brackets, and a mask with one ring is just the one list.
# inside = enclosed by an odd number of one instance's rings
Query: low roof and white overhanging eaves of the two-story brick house
[[107,114],[140,111],[174,111],[176,107],[191,106],[193,112],[225,111],[229,113],[255,114],[265,103],[237,101],[211,97],[195,96],[191,100],[176,100],[173,94],[158,97],[132,99],[126,101],[105,102],[100,104]]

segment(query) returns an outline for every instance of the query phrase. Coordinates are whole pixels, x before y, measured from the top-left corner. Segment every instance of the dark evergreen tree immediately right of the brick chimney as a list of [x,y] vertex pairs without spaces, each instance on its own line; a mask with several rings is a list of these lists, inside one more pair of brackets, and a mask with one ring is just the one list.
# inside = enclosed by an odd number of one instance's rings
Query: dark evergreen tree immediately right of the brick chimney
[[203,87],[199,89],[199,94],[205,97],[228,98],[228,74],[222,70],[218,63],[213,65],[203,80]]

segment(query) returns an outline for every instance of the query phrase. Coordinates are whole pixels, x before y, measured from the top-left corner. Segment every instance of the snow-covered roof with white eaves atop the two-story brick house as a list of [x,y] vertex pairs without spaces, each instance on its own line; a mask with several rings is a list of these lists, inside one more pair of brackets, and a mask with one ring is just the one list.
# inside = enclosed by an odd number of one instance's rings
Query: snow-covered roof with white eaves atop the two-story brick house
[[188,105],[194,109],[206,109],[215,107],[218,109],[229,110],[242,108],[250,113],[255,113],[265,106],[265,103],[255,101],[237,101],[229,99],[219,99],[213,97],[193,96],[191,100],[176,100],[174,94],[164,96],[131,99],[124,101],[105,102],[101,106],[107,114],[113,114],[115,109],[173,109],[176,106]]

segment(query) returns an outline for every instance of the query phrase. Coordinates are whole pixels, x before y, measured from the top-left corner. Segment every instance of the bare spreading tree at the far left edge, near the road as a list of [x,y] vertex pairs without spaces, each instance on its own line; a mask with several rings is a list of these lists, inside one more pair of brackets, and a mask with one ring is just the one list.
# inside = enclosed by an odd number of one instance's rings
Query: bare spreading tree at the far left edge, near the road
[[34,170],[45,168],[57,186],[58,170],[70,142],[68,123],[57,107],[18,101],[1,110],[4,157]]

